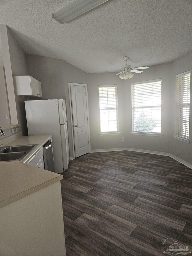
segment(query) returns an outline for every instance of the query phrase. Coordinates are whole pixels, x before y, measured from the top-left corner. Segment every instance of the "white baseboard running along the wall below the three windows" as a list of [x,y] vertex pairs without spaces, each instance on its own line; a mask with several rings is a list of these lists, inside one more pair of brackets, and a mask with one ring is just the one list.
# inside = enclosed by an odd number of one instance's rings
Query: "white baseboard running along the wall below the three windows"
[[154,155],[164,155],[164,156],[170,156],[171,158],[175,159],[176,161],[180,162],[181,164],[186,165],[190,169],[192,169],[192,164],[184,161],[183,159],[172,155],[170,153],[166,152],[158,152],[158,151],[152,151],[152,150],[145,150],[145,149],[131,149],[131,148],[117,148],[117,149],[93,149],[91,150],[91,153],[96,153],[96,152],[107,152],[107,151],[134,151],[134,152],[142,152],[142,153],[149,153],[149,154],[154,154]]

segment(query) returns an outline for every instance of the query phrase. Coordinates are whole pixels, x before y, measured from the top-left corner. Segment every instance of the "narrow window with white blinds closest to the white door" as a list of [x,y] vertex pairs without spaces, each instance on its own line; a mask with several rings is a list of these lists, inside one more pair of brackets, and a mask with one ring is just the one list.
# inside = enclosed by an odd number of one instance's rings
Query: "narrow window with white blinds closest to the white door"
[[101,133],[118,132],[117,85],[99,86]]

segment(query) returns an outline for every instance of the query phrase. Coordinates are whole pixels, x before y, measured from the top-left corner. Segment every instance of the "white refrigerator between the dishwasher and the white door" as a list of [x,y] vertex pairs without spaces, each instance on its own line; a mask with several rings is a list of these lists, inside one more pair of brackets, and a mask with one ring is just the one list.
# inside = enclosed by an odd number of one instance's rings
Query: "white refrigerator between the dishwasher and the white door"
[[28,134],[52,134],[55,172],[64,172],[69,164],[65,100],[25,101],[25,109]]

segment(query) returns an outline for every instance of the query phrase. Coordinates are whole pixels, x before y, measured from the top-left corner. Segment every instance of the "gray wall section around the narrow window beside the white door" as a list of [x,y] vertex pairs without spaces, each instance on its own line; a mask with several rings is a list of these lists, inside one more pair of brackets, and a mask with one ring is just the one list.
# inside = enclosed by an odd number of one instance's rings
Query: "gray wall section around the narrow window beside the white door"
[[[118,76],[115,76],[114,73],[87,74],[87,77],[91,149],[111,149],[127,147],[124,81]],[[121,132],[121,134],[100,136],[98,86],[114,84],[117,84],[119,131]],[[121,137],[124,137],[124,141],[121,141]]]

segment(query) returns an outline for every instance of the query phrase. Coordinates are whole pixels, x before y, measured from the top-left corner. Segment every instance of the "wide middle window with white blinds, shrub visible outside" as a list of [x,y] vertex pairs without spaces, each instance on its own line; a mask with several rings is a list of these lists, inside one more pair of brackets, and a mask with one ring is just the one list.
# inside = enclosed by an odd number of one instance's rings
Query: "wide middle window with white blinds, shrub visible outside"
[[161,133],[161,79],[132,83],[132,131]]

